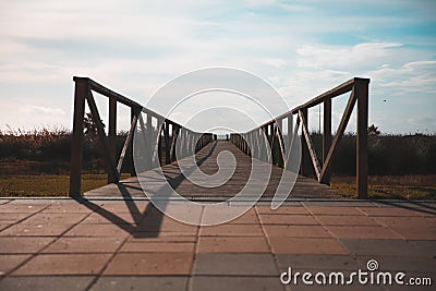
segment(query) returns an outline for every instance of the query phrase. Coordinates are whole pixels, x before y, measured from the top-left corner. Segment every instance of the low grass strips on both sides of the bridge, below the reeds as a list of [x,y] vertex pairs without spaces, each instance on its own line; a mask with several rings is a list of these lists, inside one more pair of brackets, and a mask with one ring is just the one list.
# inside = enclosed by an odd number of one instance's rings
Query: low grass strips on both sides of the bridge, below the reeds
[[[129,178],[123,173],[121,179]],[[82,175],[82,193],[107,184],[107,174]],[[13,174],[0,177],[2,197],[68,196],[68,174]],[[332,177],[331,187],[346,198],[355,198],[353,177]],[[377,175],[368,179],[368,197],[374,199],[436,199],[436,175]]]

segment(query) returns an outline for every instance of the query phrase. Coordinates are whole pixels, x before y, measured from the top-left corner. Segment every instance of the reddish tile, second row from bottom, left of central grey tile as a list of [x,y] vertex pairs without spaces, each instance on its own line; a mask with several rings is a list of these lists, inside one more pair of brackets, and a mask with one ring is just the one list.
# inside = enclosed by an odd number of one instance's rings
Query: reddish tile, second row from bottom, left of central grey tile
[[104,275],[189,275],[192,253],[119,253]]

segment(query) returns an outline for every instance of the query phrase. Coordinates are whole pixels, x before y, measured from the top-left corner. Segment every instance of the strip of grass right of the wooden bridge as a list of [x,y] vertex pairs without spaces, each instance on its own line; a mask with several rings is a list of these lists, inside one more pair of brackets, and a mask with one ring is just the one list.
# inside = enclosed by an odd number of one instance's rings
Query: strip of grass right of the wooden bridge
[[[355,198],[355,178],[332,177],[331,187],[347,198]],[[373,199],[436,199],[436,175],[375,175],[368,178]]]

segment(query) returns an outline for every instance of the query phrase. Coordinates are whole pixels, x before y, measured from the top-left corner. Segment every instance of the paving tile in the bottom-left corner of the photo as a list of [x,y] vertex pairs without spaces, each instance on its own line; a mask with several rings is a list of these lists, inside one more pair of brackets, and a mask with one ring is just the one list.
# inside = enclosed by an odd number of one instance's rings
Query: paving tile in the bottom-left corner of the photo
[[16,276],[0,281],[0,290],[13,291],[83,291],[94,280],[92,276]]

